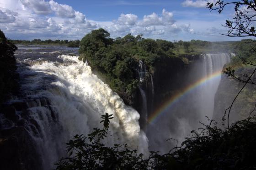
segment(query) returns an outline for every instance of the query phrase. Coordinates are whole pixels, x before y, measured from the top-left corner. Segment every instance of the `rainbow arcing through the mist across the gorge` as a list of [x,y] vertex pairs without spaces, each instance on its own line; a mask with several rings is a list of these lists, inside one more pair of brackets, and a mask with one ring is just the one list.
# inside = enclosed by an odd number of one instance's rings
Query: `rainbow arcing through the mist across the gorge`
[[214,72],[213,74],[203,77],[196,82],[188,85],[187,87],[181,89],[179,93],[176,93],[175,95],[172,95],[171,98],[169,98],[165,103],[163,103],[154,113],[152,113],[148,118],[148,123],[153,123],[154,120],[156,120],[162,113],[164,113],[168,108],[171,108],[171,106],[179,101],[183,96],[190,93],[193,89],[197,88],[198,86],[202,86],[204,83],[213,80],[215,78],[218,78],[221,76],[221,71]]

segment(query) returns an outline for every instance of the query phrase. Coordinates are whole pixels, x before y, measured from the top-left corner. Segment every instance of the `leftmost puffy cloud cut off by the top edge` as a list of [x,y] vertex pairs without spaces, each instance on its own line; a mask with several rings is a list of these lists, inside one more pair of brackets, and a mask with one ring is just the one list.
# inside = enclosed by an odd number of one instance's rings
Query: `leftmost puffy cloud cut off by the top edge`
[[49,14],[52,12],[48,2],[44,0],[20,0],[27,9],[32,9],[36,14]]

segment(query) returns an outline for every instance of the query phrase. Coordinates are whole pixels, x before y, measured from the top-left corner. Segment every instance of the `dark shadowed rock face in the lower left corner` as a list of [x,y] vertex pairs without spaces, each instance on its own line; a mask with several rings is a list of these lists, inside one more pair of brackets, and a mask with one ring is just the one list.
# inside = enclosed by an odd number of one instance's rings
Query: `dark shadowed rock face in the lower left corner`
[[[38,134],[40,127],[32,120],[29,107],[51,107],[47,98],[7,103],[0,113],[0,165],[4,170],[40,170],[43,167],[28,127]],[[52,111],[52,117],[55,114]]]

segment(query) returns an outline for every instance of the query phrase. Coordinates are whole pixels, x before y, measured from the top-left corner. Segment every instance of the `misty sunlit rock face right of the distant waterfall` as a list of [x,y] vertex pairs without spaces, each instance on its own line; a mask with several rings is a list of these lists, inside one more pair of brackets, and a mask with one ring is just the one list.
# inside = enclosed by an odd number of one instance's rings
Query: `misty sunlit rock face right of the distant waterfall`
[[[251,72],[251,68],[240,68],[236,70],[235,74],[241,77],[245,74],[250,75]],[[256,75],[254,74],[252,78],[255,79]],[[215,94],[213,113],[213,119],[219,122],[219,125],[227,127],[227,114],[229,110],[227,110],[226,114],[225,110],[229,108],[236,94],[240,91],[243,85],[244,83],[238,82],[231,77],[227,77],[225,74],[222,75],[219,88]],[[229,126],[238,120],[248,118],[250,113],[253,111],[255,104],[256,86],[253,84],[247,84],[231,108]],[[251,115],[254,114],[255,112],[251,113]]]

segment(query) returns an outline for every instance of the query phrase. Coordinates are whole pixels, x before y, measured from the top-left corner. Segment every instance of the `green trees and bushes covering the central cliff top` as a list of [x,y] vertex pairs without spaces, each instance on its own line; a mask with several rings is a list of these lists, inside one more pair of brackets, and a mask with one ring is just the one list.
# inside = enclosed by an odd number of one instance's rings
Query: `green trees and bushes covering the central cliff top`
[[[166,40],[145,39],[143,35],[128,34],[123,38],[110,38],[104,29],[93,30],[80,41],[80,60],[87,60],[93,71],[132,105],[138,91],[138,65],[143,61],[148,73],[154,74],[155,65],[173,59],[184,67],[192,56],[206,52],[227,52],[231,42],[192,40],[172,43]],[[146,77],[149,74],[146,74]]]

